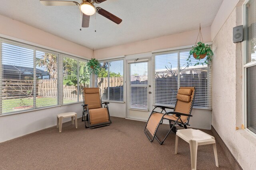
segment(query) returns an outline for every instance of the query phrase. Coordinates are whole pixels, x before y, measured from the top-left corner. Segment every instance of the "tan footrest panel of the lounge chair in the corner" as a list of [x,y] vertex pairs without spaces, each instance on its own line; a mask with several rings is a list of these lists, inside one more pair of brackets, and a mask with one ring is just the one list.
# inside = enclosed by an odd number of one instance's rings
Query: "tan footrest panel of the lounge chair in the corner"
[[109,121],[107,108],[90,109],[89,114],[91,125]]

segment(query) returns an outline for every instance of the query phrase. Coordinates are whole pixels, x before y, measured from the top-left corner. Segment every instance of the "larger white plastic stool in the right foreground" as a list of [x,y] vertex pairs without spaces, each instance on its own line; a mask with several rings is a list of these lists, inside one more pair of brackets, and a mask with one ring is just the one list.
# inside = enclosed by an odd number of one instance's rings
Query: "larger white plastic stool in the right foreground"
[[215,164],[219,167],[216,143],[213,136],[196,129],[180,129],[176,132],[175,154],[178,151],[179,137],[189,143],[192,170],[196,170],[197,147],[199,145],[213,144]]

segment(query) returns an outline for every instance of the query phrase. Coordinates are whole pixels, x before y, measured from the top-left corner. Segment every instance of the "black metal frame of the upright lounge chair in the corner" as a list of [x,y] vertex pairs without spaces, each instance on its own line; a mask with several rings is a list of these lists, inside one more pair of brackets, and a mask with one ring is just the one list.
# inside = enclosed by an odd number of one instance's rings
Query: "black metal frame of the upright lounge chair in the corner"
[[[99,90],[100,90],[100,88],[99,88]],[[102,104],[104,104],[104,107],[102,107]],[[108,104],[109,104],[109,102],[103,102],[103,103],[102,103],[102,99],[101,99],[101,90],[100,90],[100,107],[101,107],[101,108],[107,108],[109,123],[98,123],[98,124],[95,124],[95,125],[90,125],[89,108],[88,108],[88,104],[85,104],[84,89],[83,89],[83,104],[82,104],[82,107],[83,107],[83,115],[82,115],[82,121],[84,121],[84,123],[85,123],[85,128],[94,129],[94,128],[98,128],[98,127],[109,126],[109,125],[112,123],[112,121],[111,121],[111,119],[110,119],[110,115],[109,115]],[[86,122],[88,122],[88,126],[86,126]]]

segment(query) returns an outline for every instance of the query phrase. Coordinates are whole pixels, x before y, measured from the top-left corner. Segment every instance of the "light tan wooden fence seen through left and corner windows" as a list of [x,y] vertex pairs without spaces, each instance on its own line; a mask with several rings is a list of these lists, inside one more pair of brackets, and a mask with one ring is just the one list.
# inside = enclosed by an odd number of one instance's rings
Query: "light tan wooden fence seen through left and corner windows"
[[[110,77],[109,86],[117,87],[123,86],[123,77]],[[108,87],[108,78],[98,78],[98,85],[104,92],[104,89]],[[84,84],[80,86],[79,94],[82,94],[82,88],[88,86]],[[18,79],[3,79],[2,86],[2,98],[13,99],[13,98],[27,98],[33,96],[34,81],[33,80],[18,80]],[[57,80],[37,80],[36,82],[36,96],[45,98],[56,98],[57,97]],[[63,86],[63,98],[77,98],[76,86]]]

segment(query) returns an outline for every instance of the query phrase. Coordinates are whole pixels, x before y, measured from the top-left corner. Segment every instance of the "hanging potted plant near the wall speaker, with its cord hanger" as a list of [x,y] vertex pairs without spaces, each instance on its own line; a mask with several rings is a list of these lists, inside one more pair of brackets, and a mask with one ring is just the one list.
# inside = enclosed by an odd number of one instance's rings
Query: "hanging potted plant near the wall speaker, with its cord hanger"
[[[194,64],[194,66],[199,65],[199,64],[209,64],[209,62],[212,61],[212,56],[213,56],[213,52],[211,50],[210,45],[208,44],[204,44],[203,43],[203,37],[202,37],[202,33],[201,33],[201,25],[199,28],[199,33],[198,36],[200,38],[200,41],[198,43],[196,43],[192,49],[190,50],[189,56],[188,56],[188,64],[191,64],[191,55],[193,55],[193,57],[195,59],[198,60],[198,62],[196,62],[196,64]],[[196,42],[198,40],[198,36],[196,39]],[[201,37],[202,37],[202,42],[201,42]],[[200,62],[201,59],[204,59],[206,57],[206,59],[203,62]]]

